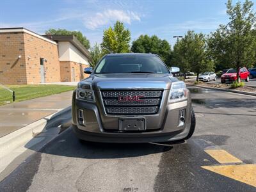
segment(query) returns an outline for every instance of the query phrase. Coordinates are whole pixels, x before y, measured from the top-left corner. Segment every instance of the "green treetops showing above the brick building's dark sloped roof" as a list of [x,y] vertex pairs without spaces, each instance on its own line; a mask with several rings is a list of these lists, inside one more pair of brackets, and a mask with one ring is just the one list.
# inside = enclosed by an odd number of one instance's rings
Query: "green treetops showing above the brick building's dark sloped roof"
[[81,31],[68,31],[67,29],[49,29],[45,31],[45,35],[74,35],[77,40],[84,45],[86,49],[90,49],[90,42]]

